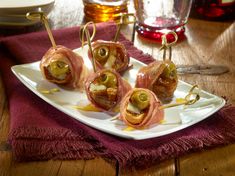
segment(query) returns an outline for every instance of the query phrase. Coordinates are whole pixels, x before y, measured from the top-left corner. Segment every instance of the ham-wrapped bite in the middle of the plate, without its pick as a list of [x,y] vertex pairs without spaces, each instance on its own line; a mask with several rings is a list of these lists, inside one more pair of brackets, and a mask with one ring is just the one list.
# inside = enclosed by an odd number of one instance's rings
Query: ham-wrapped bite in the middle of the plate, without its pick
[[115,112],[122,97],[131,89],[128,82],[114,70],[103,69],[90,75],[85,83],[86,94],[101,111]]

